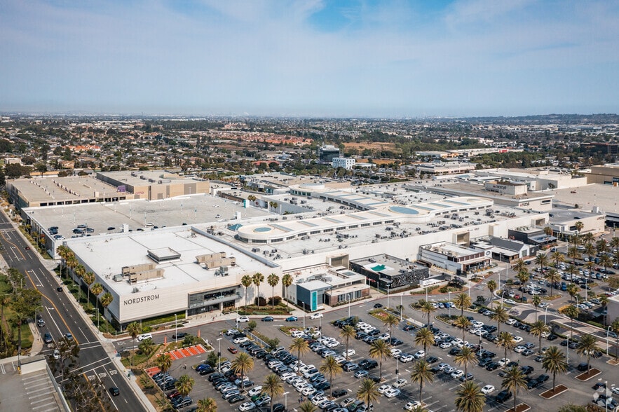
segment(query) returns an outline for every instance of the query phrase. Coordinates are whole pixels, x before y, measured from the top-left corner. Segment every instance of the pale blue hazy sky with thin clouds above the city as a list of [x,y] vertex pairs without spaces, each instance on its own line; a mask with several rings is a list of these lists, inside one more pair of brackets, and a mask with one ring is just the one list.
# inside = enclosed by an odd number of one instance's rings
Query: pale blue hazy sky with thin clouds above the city
[[619,112],[619,1],[0,0],[0,110]]

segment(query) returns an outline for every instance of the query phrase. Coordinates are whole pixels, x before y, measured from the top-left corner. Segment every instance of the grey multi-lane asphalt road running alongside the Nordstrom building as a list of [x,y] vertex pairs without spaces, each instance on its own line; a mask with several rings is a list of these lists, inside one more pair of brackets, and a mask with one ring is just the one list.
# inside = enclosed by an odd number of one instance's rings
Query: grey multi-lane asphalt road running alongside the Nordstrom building
[[[81,369],[86,380],[102,383],[109,404],[116,410],[144,411],[140,399],[112,362],[96,332],[91,329],[88,320],[80,315],[81,309],[76,308],[72,297],[68,296],[67,288],[62,287],[62,291],[57,291],[61,286],[60,279],[43,265],[34,249],[29,249],[30,245],[4,213],[0,214],[0,245],[3,246],[1,254],[6,263],[25,274],[24,287],[34,287],[41,292],[41,307],[36,308],[36,313],[45,321],[45,326],[39,328],[41,338],[45,332],[49,332],[57,342],[64,334],[72,334],[80,348],[77,368]],[[41,353],[49,356],[52,350],[43,345]],[[113,386],[121,391],[117,397],[111,397],[107,391],[107,388]]]

